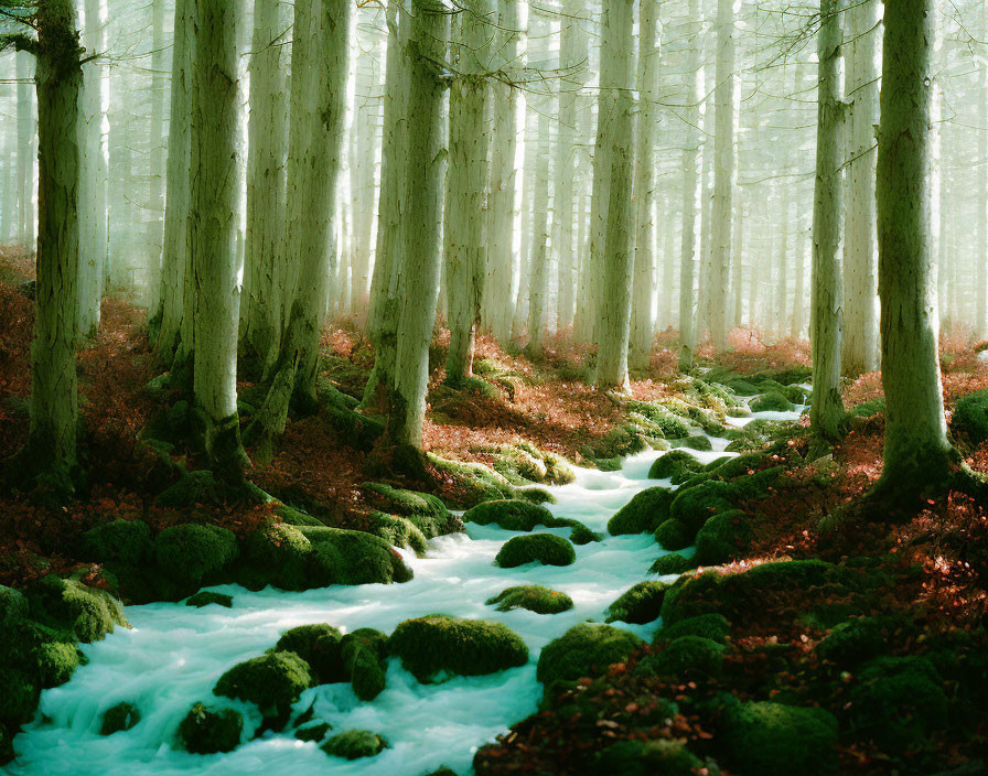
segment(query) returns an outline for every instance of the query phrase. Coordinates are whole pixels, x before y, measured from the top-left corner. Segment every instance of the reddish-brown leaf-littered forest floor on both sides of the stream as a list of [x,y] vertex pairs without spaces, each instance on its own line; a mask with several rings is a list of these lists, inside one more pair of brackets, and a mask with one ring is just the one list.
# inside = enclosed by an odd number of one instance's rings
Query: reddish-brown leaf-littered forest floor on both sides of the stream
[[[7,252],[0,262],[0,459],[20,448],[28,429],[33,302],[21,284],[31,271],[23,256]],[[426,445],[436,455],[514,476],[518,445],[525,442],[601,467],[640,442],[627,430],[626,402],[586,381],[592,368],[588,349],[560,337],[540,358],[530,359],[482,337],[477,381],[453,391],[442,385],[444,337],[437,336],[431,352],[426,423]],[[676,370],[673,343],[672,333],[658,338],[647,375],[635,376],[633,399],[689,395],[689,384]],[[808,364],[803,342],[765,345],[754,333],[735,332],[732,345],[731,354],[716,362],[700,353],[700,363],[742,378]],[[352,326],[335,326],[324,340],[323,355],[323,379],[359,397],[373,363],[366,341]],[[943,359],[948,412],[958,398],[988,388],[988,365],[979,363],[967,338],[945,338]],[[175,509],[157,504],[173,474],[162,471],[140,435],[162,411],[160,398],[146,388],[158,371],[143,313],[125,301],[107,300],[99,337],[79,355],[80,457],[88,493],[58,508],[47,505],[43,493],[0,496],[0,584],[23,586],[56,572],[112,589],[112,580],[80,551],[82,535],[108,520],[139,518],[153,532],[191,520],[215,522],[244,537],[269,519],[270,509],[258,506]],[[240,388],[248,395],[254,386],[244,382]],[[864,375],[845,388],[848,408],[880,398],[878,375]],[[662,741],[685,742],[710,774],[716,773],[715,761],[737,759],[738,746],[765,750],[769,757],[772,740],[755,736],[738,744],[720,734],[739,701],[792,702],[830,712],[840,728],[840,773],[984,773],[978,769],[988,767],[984,505],[952,494],[909,520],[845,520],[820,529],[821,520],[826,524],[825,518],[853,504],[880,476],[881,410],[880,402],[866,405],[833,456],[813,464],[802,457],[808,446],[805,424],[776,436],[770,452],[780,441],[784,450],[772,452],[760,466],[781,463],[785,481],[740,505],[750,517],[743,547],[739,543],[733,560],[712,572],[709,567],[687,572],[708,582],[711,574],[717,578],[717,584],[702,589],[697,583],[696,613],[722,613],[730,621],[717,670],[675,678],[643,670],[668,649],[656,639],[625,661],[599,667],[600,676],[547,690],[540,713],[481,750],[477,773],[593,772],[588,763],[606,763],[614,773],[646,773],[635,770],[645,766],[633,763],[648,762],[642,747],[654,748]],[[988,472],[988,443],[968,445],[964,453],[974,468]],[[194,468],[194,459],[178,451],[174,457]],[[461,477],[441,465],[430,472],[433,479],[425,483],[388,476],[373,446],[354,446],[347,429],[321,413],[293,419],[272,462],[249,476],[288,504],[312,514],[316,506],[327,524],[364,529],[374,510],[367,482],[430,491],[451,506],[471,500]],[[778,560],[826,565],[820,571],[794,564],[792,575],[754,591],[737,582]],[[675,705],[656,716],[657,699]],[[618,742],[629,745],[627,762],[614,747]]]

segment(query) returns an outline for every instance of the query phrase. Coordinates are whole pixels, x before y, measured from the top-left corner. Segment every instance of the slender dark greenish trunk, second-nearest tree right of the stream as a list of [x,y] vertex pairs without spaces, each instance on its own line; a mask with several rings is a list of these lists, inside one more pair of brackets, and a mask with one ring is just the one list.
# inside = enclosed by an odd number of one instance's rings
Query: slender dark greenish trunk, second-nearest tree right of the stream
[[813,407],[810,433],[818,443],[840,436],[840,19],[838,0],[821,0],[818,34],[816,194],[813,208]]

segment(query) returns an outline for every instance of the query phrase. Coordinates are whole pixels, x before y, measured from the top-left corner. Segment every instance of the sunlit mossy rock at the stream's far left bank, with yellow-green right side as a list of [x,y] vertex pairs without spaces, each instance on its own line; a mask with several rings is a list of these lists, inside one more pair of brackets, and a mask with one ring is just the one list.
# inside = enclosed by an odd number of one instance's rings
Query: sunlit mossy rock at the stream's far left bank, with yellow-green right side
[[98,642],[114,627],[129,627],[124,605],[109,593],[72,579],[49,574],[28,588],[31,616],[79,642]]

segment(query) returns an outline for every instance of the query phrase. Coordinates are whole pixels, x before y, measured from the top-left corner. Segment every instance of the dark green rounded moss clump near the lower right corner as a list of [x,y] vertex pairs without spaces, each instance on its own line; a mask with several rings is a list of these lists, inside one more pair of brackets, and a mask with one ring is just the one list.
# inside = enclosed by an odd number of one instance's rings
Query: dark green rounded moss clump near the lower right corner
[[922,657],[885,657],[866,665],[851,690],[851,724],[885,751],[923,748],[947,725],[943,679]]

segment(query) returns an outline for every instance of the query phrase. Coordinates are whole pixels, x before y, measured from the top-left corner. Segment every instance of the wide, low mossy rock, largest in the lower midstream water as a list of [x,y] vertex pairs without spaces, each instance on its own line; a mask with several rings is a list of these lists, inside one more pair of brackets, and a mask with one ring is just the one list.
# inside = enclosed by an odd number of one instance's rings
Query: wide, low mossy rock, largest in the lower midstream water
[[528,662],[528,647],[506,625],[443,614],[406,619],[387,647],[422,683],[484,676]]

